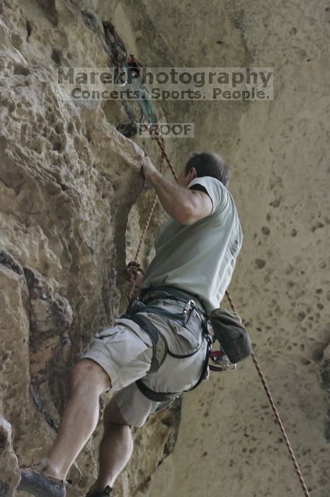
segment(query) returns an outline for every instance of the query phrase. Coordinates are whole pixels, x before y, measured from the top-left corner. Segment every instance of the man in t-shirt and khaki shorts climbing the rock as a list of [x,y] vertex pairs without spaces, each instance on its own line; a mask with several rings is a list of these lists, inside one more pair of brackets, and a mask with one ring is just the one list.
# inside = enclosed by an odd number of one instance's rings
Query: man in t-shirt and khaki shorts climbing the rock
[[[230,172],[215,153],[194,154],[178,182],[144,158],[142,174],[169,214],[144,273],[139,300],[96,334],[69,375],[69,396],[48,457],[21,470],[20,489],[65,496],[67,474],[103,414],[98,479],[86,496],[108,496],[129,461],[132,427],[207,378],[205,312],[219,307],[241,249]],[[141,278],[140,278],[141,279]],[[137,281],[137,283],[140,283]]]

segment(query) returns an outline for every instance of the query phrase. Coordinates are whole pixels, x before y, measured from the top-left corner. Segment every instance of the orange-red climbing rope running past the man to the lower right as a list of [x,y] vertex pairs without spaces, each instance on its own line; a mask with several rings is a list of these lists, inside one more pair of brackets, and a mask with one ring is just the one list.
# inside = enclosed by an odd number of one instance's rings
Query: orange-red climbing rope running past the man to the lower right
[[[157,133],[157,136],[154,139],[155,139],[155,141],[157,141],[157,143],[159,145],[159,148],[161,149],[161,165],[160,165],[159,170],[160,171],[163,170],[163,168],[164,168],[164,161],[166,160],[166,162],[169,165],[169,168],[171,169],[171,171],[173,173],[174,179],[177,180],[178,178],[176,176],[175,170],[174,170],[173,165],[171,164],[171,161],[169,160],[169,157],[168,157],[168,155],[166,153],[166,150],[165,150],[164,138],[162,138],[159,135],[159,133]],[[137,274],[138,271],[142,271],[141,268],[140,268],[140,264],[137,263],[137,258],[140,255],[142,244],[144,243],[144,239],[145,239],[145,236],[147,234],[149,223],[150,223],[150,220],[152,219],[152,213],[154,212],[154,208],[157,205],[157,200],[158,200],[157,199],[157,194],[155,192],[154,193],[154,200],[152,202],[152,208],[150,209],[149,217],[147,219],[146,224],[144,225],[144,229],[142,231],[142,235],[141,235],[141,238],[140,238],[140,243],[139,243],[139,246],[137,247],[137,253],[135,254],[135,261],[132,261],[132,262],[130,262],[127,265],[127,280],[130,280],[130,286],[129,286],[129,292],[128,292],[128,299],[129,300],[132,298],[132,295],[133,295],[134,290],[135,290],[135,275]],[[232,300],[232,297],[229,294],[228,290],[226,290],[226,296],[227,296],[227,299],[229,301],[229,305],[232,308],[233,312],[237,312],[237,310],[236,310],[236,308],[234,306],[234,302]],[[252,358],[252,361],[254,361],[254,366],[256,366],[256,371],[258,373],[259,378],[261,379],[261,383],[263,384],[263,388],[266,391],[266,395],[268,397],[269,403],[271,404],[271,408],[273,409],[273,413],[275,415],[275,419],[278,422],[278,425],[280,427],[280,431],[281,431],[281,433],[283,435],[283,439],[284,439],[285,445],[288,448],[288,452],[290,454],[290,458],[292,460],[292,464],[295,467],[295,472],[296,472],[296,474],[298,476],[298,479],[300,481],[300,484],[302,486],[302,490],[304,491],[305,497],[309,497],[309,492],[307,490],[307,486],[306,486],[305,481],[303,479],[302,472],[300,471],[299,464],[297,463],[297,459],[295,458],[295,454],[294,454],[294,452],[292,450],[292,447],[290,445],[290,442],[289,442],[289,439],[288,439],[288,435],[285,432],[285,428],[283,426],[283,422],[280,419],[280,415],[278,414],[278,410],[277,410],[277,408],[275,406],[275,403],[273,401],[273,398],[271,396],[271,391],[268,388],[268,385],[266,383],[266,379],[263,376],[263,372],[261,371],[261,367],[258,364],[256,356],[254,355],[254,352],[252,352],[251,358]]]

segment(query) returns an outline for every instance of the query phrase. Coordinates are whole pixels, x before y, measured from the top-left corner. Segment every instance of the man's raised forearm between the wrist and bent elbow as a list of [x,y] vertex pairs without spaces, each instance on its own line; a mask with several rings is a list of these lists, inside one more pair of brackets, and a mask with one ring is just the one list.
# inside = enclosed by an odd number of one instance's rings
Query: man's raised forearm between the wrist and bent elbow
[[191,205],[192,194],[190,190],[167,180],[158,170],[149,174],[148,183],[154,187],[167,214],[181,222]]

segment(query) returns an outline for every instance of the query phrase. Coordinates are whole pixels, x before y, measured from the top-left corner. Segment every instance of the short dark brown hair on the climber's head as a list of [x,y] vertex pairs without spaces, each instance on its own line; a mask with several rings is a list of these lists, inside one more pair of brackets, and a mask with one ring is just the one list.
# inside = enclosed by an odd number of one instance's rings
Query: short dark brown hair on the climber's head
[[215,152],[203,151],[201,153],[193,153],[185,167],[186,175],[191,168],[197,171],[197,177],[212,176],[217,178],[222,184],[227,187],[229,184],[231,172],[224,160]]

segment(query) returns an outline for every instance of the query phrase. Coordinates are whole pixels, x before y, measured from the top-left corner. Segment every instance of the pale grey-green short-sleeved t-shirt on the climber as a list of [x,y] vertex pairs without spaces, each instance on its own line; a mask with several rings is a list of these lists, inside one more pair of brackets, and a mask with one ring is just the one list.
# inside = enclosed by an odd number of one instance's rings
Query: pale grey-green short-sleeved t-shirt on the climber
[[[211,176],[194,178],[212,200],[212,212],[193,224],[169,218],[159,234],[156,255],[144,273],[140,290],[173,286],[196,295],[210,312],[219,307],[234,271],[243,240],[232,195]],[[205,189],[205,190],[204,190]]]

